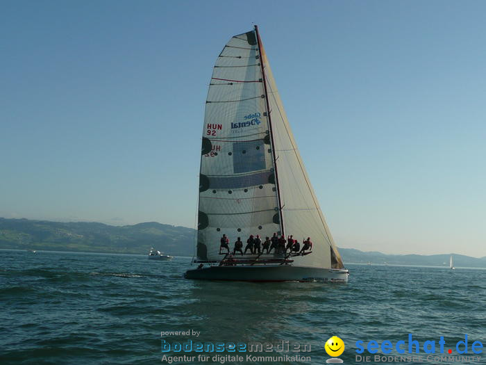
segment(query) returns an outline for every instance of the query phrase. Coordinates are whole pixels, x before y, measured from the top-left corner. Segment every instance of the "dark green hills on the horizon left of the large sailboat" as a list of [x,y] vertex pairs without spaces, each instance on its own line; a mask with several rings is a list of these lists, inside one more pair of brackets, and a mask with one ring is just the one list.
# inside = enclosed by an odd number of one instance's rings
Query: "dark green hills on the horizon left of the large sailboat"
[[115,227],[96,222],[0,218],[0,248],[192,256],[194,229],[145,222]]

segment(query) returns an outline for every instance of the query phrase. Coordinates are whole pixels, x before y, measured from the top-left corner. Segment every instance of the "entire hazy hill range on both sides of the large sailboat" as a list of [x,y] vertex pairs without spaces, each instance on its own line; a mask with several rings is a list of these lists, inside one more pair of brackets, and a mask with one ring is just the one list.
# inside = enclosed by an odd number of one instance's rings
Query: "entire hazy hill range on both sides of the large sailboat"
[[[194,229],[144,222],[115,227],[97,222],[50,222],[0,218],[0,248],[147,254],[151,247],[167,254],[192,256]],[[449,266],[450,254],[383,254],[340,248],[344,263]],[[486,268],[486,257],[454,254],[454,266]]]

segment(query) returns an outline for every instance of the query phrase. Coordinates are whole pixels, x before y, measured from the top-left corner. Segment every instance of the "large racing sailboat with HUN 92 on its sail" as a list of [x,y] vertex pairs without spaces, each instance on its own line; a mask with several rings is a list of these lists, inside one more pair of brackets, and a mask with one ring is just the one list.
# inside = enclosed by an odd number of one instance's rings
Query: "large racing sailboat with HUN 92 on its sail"
[[[308,250],[233,254],[220,247],[276,234],[310,238]],[[287,236],[286,236],[287,235]],[[223,240],[224,242],[224,240]],[[302,241],[301,241],[302,242]],[[302,242],[303,243],[303,242]],[[251,251],[251,250],[250,250]],[[187,279],[347,282],[287,121],[258,26],[219,54],[203,124],[197,268]]]

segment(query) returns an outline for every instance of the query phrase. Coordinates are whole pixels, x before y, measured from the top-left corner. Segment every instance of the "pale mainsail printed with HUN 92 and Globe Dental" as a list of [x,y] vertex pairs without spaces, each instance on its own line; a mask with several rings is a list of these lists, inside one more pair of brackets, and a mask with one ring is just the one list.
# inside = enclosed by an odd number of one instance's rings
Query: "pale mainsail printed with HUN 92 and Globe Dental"
[[[203,127],[197,256],[219,260],[219,238],[280,232],[260,52],[235,35],[212,72]],[[273,234],[273,233],[272,233]]]

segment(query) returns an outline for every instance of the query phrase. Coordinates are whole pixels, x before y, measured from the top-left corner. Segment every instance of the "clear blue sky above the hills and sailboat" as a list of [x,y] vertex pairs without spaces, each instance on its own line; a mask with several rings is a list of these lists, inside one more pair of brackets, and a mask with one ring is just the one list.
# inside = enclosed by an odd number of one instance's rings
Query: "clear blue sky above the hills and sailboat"
[[3,1],[0,216],[194,227],[208,82],[260,26],[337,245],[486,256],[484,1]]

